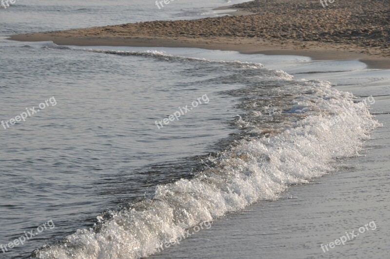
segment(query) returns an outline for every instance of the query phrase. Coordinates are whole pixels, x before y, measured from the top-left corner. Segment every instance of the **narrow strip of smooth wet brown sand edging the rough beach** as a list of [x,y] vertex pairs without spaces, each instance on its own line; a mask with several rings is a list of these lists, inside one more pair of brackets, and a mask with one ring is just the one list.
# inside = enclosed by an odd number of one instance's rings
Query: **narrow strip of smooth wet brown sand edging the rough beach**
[[[53,41],[58,45],[74,46],[123,46],[123,47],[169,47],[169,48],[201,48],[222,51],[237,51],[242,54],[294,55],[310,57],[312,60],[360,60],[369,69],[390,69],[390,59],[376,57],[358,51],[330,50],[326,48],[294,49],[293,46],[280,45],[263,41],[259,44],[219,43],[212,40],[172,40],[152,38],[120,38],[120,37],[59,37],[47,36],[44,33],[32,35],[12,35],[9,40],[17,41]],[[229,40],[229,39],[226,39]],[[225,41],[226,42],[226,41]]]

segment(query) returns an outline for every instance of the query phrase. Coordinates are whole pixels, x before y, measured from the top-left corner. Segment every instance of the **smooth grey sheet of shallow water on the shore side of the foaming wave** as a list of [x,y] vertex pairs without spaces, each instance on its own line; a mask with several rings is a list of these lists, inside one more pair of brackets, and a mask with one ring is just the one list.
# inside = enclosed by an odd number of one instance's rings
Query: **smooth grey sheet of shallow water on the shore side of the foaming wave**
[[[209,55],[211,55],[209,53]],[[217,54],[219,55],[219,53]],[[232,54],[230,54],[232,55]],[[245,55],[236,54],[245,59]],[[237,57],[233,57],[237,58]],[[292,57],[290,57],[292,58]],[[280,67],[274,56],[264,63]],[[256,61],[251,57],[249,60]],[[299,64],[300,63],[300,64]],[[316,64],[320,63],[320,66]],[[389,253],[386,236],[389,222],[389,84],[388,70],[367,70],[358,61],[300,60],[284,62],[284,70],[305,77],[330,79],[336,88],[353,91],[364,100],[372,95],[371,113],[383,126],[366,141],[365,152],[338,160],[334,173],[293,186],[276,201],[258,202],[237,213],[215,220],[191,238],[180,240],[152,258],[385,258]],[[314,73],[327,67],[327,73]],[[331,69],[329,69],[331,67]],[[343,67],[346,72],[339,71]],[[380,95],[380,96],[377,96]],[[374,221],[376,228],[359,233],[361,226]],[[372,225],[372,224],[371,224]],[[345,245],[323,252],[326,245],[345,232],[358,233]],[[324,248],[325,249],[325,248]]]

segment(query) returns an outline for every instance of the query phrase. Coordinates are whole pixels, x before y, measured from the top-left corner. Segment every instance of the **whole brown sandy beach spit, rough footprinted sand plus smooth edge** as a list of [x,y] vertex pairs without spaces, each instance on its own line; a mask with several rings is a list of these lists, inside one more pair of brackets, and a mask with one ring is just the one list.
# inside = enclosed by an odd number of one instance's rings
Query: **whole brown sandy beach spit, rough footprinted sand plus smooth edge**
[[361,59],[390,68],[390,0],[254,0],[234,16],[148,21],[14,35],[59,45],[199,47],[241,53],[302,55],[314,60]]

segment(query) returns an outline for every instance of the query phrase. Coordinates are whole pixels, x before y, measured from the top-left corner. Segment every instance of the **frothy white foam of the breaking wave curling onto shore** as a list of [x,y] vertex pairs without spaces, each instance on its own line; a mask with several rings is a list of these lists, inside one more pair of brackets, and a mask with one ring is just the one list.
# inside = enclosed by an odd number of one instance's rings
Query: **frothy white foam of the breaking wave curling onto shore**
[[[379,125],[364,103],[354,103],[353,95],[332,88],[329,82],[293,80],[282,71],[270,71],[270,75],[279,76],[280,84],[291,81],[276,89],[292,92],[291,100],[280,106],[283,109],[258,107],[237,123],[257,133],[273,129],[272,134],[240,140],[233,148],[210,157],[214,166],[195,178],[158,185],[153,199],[138,202],[128,210],[112,211],[109,219],[98,217],[97,228],[78,230],[64,242],[40,249],[37,256],[146,257],[155,253],[159,244],[176,239],[200,222],[259,200],[278,199],[289,185],[307,183],[331,172],[334,159],[357,155],[370,131]],[[300,92],[303,94],[297,94]],[[251,120],[266,113],[278,118],[285,114],[287,119],[275,125]]]

